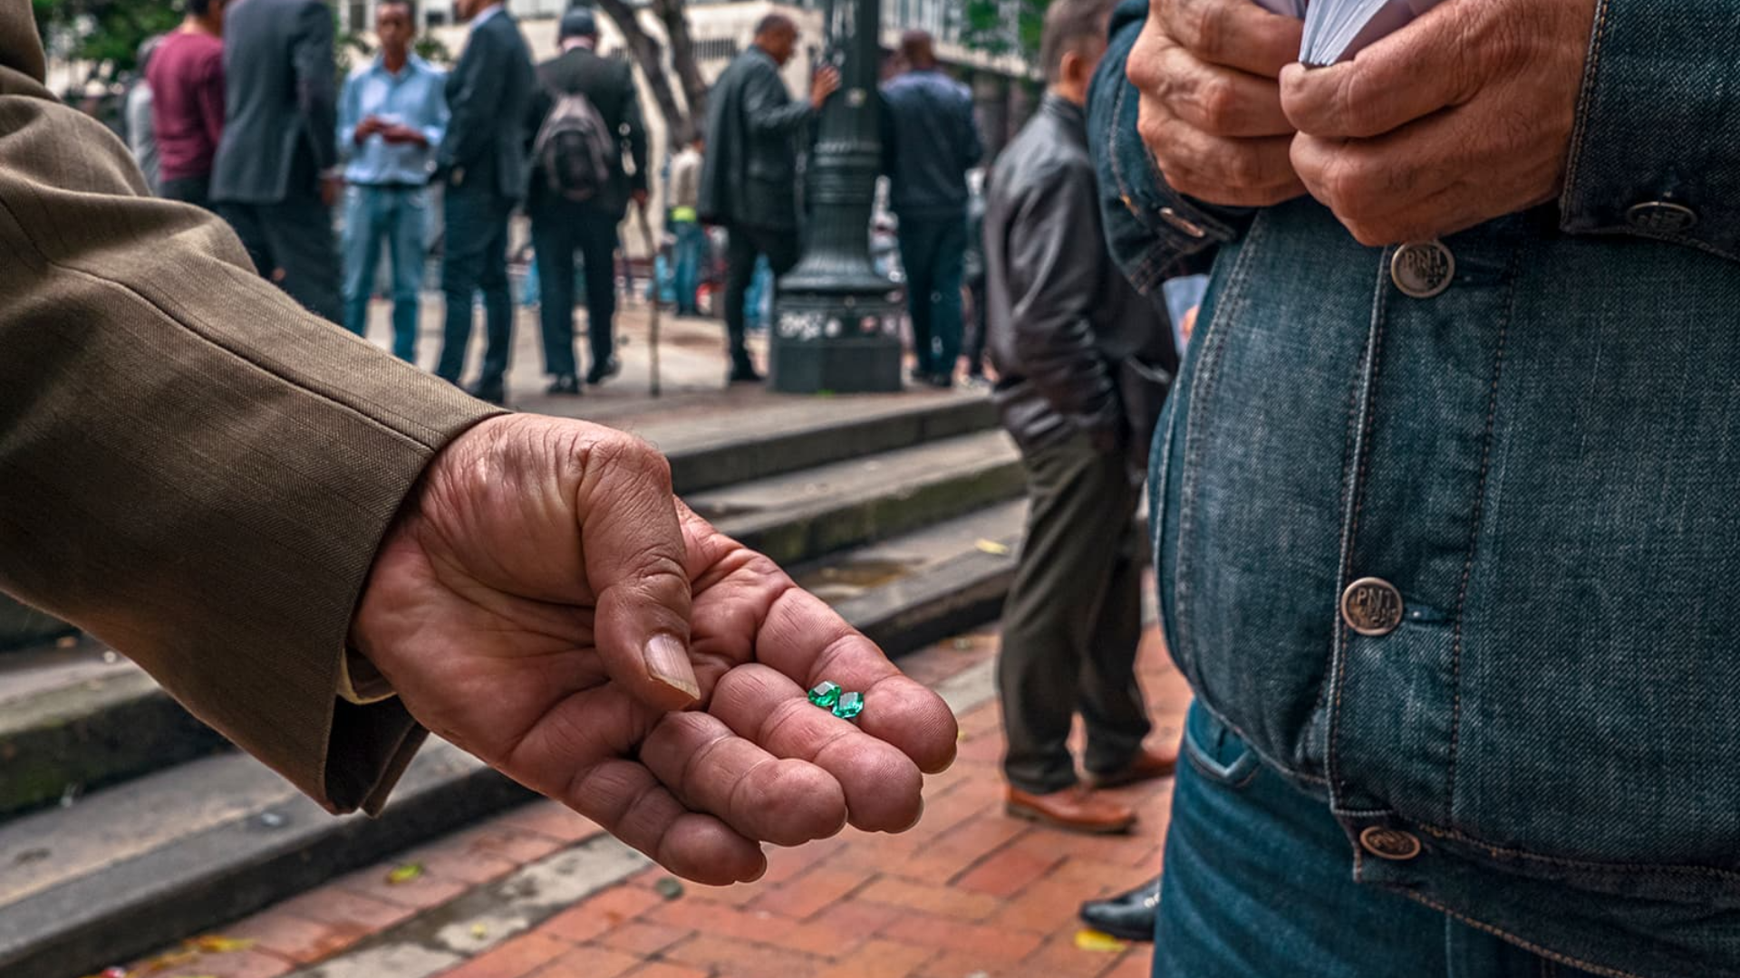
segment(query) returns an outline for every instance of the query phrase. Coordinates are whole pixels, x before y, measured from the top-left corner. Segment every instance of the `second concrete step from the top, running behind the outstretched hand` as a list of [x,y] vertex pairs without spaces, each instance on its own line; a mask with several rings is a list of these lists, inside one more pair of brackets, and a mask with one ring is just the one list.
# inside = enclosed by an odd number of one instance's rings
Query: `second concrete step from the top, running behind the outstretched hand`
[[[687,498],[717,517],[720,529],[781,564],[917,529],[1020,492],[1020,463],[1000,432],[933,440],[983,421],[981,404],[943,395],[922,409],[884,409],[879,423],[900,428],[896,440],[908,447]],[[887,439],[854,425],[833,430],[842,432],[839,444],[854,447]],[[689,479],[698,484],[726,472],[781,472],[792,465],[776,458],[783,451],[806,458],[835,451],[825,445],[828,432],[788,419],[757,433],[760,442],[729,440],[717,430],[713,442],[691,433],[673,465],[691,465]],[[738,447],[719,449],[719,439]],[[0,818],[223,748],[223,738],[101,642],[0,656]]]

